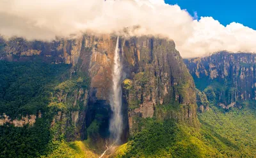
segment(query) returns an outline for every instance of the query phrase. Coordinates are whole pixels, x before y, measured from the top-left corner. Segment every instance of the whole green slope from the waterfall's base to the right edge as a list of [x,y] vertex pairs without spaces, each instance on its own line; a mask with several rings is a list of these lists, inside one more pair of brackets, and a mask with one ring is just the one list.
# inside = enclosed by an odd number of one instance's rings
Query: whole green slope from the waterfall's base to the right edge
[[[248,104],[248,103],[246,103]],[[172,120],[147,119],[145,129],[118,147],[113,157],[253,157],[256,111],[215,106],[199,115],[200,130]]]

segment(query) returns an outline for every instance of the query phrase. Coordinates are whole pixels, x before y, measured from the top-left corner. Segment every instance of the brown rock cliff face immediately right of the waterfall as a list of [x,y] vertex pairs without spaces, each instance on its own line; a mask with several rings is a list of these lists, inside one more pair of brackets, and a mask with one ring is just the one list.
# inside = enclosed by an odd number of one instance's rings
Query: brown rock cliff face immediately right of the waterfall
[[130,134],[140,118],[174,118],[197,125],[195,86],[172,40],[143,36],[123,42],[124,100]]

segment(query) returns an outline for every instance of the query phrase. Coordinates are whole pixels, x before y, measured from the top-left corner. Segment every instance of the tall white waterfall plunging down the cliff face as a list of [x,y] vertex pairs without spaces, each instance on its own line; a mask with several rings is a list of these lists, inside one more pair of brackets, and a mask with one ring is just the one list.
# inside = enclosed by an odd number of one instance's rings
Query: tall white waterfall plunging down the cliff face
[[120,59],[120,50],[118,49],[119,36],[116,40],[116,49],[114,56],[114,65],[112,70],[112,95],[110,99],[110,106],[112,110],[112,117],[110,120],[109,130],[113,138],[114,143],[119,143],[122,134],[122,88],[121,88],[121,76],[122,76],[122,63]]

